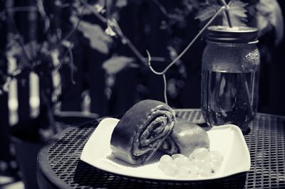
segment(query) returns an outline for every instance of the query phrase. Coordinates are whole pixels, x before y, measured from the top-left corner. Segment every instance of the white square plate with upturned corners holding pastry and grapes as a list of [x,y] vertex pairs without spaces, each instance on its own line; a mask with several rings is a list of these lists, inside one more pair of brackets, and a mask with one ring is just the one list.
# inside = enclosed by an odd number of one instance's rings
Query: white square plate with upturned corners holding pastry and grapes
[[247,172],[250,169],[249,149],[244,136],[239,127],[232,124],[214,126],[207,131],[210,150],[217,150],[224,156],[221,168],[209,177],[176,178],[165,175],[158,168],[159,158],[157,156],[161,156],[162,153],[157,153],[154,161],[150,161],[152,163],[142,166],[132,166],[118,161],[112,156],[110,149],[111,135],[118,121],[119,119],[113,118],[100,121],[83,148],[82,161],[110,173],[155,180],[209,180]]

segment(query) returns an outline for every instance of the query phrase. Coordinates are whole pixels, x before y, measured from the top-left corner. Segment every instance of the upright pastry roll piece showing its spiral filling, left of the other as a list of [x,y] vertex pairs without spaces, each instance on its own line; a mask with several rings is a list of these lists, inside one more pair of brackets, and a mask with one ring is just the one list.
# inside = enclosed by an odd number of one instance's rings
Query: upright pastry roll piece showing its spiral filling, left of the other
[[120,119],[111,136],[113,156],[130,164],[145,163],[175,125],[175,112],[167,104],[143,100]]

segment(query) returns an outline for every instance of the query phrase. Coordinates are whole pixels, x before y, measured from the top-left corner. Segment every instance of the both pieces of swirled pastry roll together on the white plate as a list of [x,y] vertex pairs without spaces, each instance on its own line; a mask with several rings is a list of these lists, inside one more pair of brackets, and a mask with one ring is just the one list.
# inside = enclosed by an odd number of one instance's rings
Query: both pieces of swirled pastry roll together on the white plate
[[146,99],[131,107],[113,130],[113,156],[130,164],[143,164],[160,148],[167,154],[189,156],[196,148],[208,148],[209,137],[197,124],[175,117],[163,102]]

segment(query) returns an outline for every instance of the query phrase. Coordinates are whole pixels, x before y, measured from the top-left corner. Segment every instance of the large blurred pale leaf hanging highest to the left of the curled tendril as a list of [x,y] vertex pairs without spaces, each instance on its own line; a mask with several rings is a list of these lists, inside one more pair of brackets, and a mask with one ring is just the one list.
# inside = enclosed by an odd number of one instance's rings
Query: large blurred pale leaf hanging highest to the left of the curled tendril
[[[76,26],[78,18],[71,16],[71,22]],[[103,54],[109,53],[109,45],[112,42],[112,38],[110,38],[98,24],[80,21],[78,31],[81,31],[83,36],[89,39],[91,48]]]

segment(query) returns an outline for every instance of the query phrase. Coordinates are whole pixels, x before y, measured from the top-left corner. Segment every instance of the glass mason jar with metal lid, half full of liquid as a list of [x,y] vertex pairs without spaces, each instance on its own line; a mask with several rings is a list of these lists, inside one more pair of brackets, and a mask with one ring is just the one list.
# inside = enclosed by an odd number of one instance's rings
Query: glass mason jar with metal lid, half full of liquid
[[257,28],[210,26],[202,55],[202,114],[208,126],[235,124],[243,132],[257,113]]

